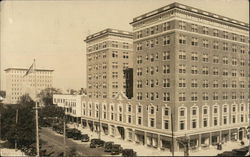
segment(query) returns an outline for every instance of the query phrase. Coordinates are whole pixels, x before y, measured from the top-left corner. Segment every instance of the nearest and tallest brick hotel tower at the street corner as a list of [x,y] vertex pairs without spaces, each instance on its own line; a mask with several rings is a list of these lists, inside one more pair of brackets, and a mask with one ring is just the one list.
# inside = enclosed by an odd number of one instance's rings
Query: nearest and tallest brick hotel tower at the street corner
[[170,130],[172,112],[174,136],[192,144],[231,139],[248,125],[248,24],[173,3],[131,25],[135,99],[158,110],[145,123]]

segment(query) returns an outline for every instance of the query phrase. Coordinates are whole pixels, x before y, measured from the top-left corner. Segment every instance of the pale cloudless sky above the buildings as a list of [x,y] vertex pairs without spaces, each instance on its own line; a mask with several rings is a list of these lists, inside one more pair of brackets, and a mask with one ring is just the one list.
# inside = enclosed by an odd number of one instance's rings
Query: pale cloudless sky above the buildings
[[53,69],[53,86],[86,87],[89,35],[106,28],[132,31],[134,17],[173,2],[249,23],[248,0],[6,0],[0,2],[1,87],[4,69]]

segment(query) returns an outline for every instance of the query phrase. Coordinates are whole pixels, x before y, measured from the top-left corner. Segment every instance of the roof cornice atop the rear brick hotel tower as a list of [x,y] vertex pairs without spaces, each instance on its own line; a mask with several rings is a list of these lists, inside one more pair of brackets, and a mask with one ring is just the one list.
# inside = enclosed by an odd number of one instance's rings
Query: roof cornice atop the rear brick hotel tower
[[102,36],[105,36],[105,35],[122,36],[122,37],[131,38],[131,39],[133,38],[132,32],[107,28],[105,30],[102,30],[100,32],[97,32],[95,34],[87,36],[87,38],[84,41],[89,42],[91,40],[94,40],[96,38],[99,38],[99,37],[102,37]]

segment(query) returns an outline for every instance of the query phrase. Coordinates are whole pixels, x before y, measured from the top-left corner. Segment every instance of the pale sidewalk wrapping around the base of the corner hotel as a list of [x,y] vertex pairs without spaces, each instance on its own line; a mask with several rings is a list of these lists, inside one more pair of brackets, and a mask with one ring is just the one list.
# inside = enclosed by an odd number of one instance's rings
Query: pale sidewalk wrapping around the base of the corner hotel
[[[92,132],[89,129],[82,128],[80,125],[79,127],[77,127],[76,124],[68,124],[68,126],[70,128],[77,128],[82,133],[88,134],[90,136],[90,139],[98,138],[97,132]],[[113,141],[116,144],[120,144],[123,147],[123,149],[134,149],[134,151],[137,152],[138,156],[172,156],[172,153],[169,151],[163,151],[163,150],[159,150],[156,148],[150,148],[147,146],[136,144],[134,142],[124,141],[122,139],[104,135],[103,133],[101,134],[101,139],[106,142]],[[244,139],[244,142],[245,142],[245,146],[249,144],[249,141],[247,139]],[[222,148],[223,148],[222,150],[217,150],[215,146],[212,146],[207,149],[190,151],[189,155],[190,156],[216,156],[217,154],[223,153],[224,151],[231,151],[232,149],[237,149],[241,147],[244,147],[244,146],[241,146],[239,141],[238,142],[229,141],[222,145]],[[183,156],[184,152],[175,152],[174,155]]]

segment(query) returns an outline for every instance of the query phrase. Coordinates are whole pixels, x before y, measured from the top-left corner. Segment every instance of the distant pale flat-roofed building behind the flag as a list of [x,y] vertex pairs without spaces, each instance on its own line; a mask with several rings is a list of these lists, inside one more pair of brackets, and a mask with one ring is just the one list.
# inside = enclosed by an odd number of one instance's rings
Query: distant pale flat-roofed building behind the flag
[[15,104],[25,93],[34,94],[32,92],[35,88],[35,80],[37,81],[37,91],[52,87],[54,70],[36,69],[36,78],[34,73],[24,77],[27,70],[25,68],[5,69],[6,102]]

